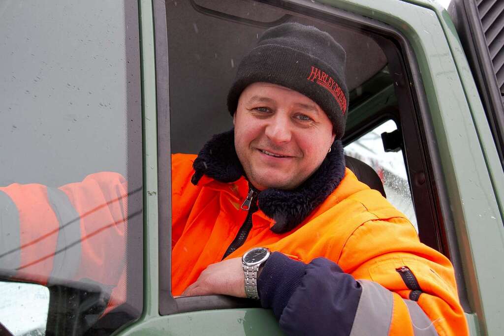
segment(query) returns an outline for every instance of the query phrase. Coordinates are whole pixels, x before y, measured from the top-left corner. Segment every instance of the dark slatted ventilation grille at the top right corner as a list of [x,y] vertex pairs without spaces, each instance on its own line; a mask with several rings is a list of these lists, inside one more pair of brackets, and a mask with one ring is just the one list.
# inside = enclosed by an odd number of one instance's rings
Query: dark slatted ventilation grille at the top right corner
[[479,17],[504,102],[504,0],[477,0]]

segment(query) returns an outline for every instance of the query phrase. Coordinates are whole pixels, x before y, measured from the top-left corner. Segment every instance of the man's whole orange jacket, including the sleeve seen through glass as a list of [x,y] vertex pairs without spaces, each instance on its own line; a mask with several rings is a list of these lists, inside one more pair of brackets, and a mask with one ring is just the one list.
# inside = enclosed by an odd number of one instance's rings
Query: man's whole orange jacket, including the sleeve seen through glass
[[[172,156],[173,295],[180,295],[209,264],[221,261],[247,214],[241,209],[247,181],[242,177],[223,183],[203,176],[195,186],[191,183],[195,158]],[[18,270],[42,284],[49,277],[117,284],[124,257],[125,192],[124,179],[109,172],[59,188],[39,184],[0,188],[0,224],[6,233],[0,268]],[[388,316],[382,310],[389,309],[392,316],[386,323],[391,335],[413,335],[413,324],[419,325],[425,316],[438,334],[467,334],[450,261],[421,244],[404,215],[348,169],[338,187],[293,230],[274,233],[273,220],[261,210],[252,220],[243,245],[227,258],[239,257],[254,246],[305,263],[324,256],[359,281],[361,301],[370,302],[367,310],[362,304],[365,313],[357,314],[354,324],[379,324]],[[77,225],[66,226],[69,223]],[[54,253],[78,237],[82,244]],[[422,291],[418,301],[409,300],[413,290],[398,272],[401,269],[416,278]],[[383,298],[388,299],[380,301]]]

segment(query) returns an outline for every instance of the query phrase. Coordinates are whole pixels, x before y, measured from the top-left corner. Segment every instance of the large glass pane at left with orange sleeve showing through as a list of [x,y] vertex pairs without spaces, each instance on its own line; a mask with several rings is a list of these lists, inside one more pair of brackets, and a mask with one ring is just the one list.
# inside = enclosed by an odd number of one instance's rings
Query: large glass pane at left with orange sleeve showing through
[[[13,316],[26,319],[21,329],[13,326],[25,332],[40,327],[28,321],[45,315],[47,333],[67,334],[74,325],[81,334],[121,311],[124,322],[136,318],[142,310],[137,4],[2,2],[0,32],[0,279],[47,287],[0,282],[0,322],[9,327]],[[11,290],[19,286],[22,295]],[[24,305],[21,296],[43,300]],[[61,311],[65,302],[75,311]]]

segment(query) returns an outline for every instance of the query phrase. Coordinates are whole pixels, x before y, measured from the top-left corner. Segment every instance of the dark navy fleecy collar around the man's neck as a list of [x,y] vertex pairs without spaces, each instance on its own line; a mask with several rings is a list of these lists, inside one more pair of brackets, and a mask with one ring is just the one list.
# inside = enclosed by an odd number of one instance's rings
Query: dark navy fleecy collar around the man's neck
[[[191,179],[198,184],[203,175],[219,182],[231,183],[244,176],[234,149],[234,129],[215,135],[203,146],[194,161]],[[259,209],[275,221],[271,230],[285,233],[299,225],[339,185],[345,175],[343,145],[336,140],[331,152],[300,186],[292,190],[266,189],[259,193]]]

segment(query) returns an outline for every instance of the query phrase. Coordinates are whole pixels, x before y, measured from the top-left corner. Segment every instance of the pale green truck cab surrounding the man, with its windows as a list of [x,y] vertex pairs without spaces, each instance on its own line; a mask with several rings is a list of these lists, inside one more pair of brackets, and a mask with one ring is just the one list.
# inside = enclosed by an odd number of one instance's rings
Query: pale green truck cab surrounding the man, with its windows
[[[0,189],[0,333],[281,334],[258,302],[172,295],[170,155],[232,127],[236,67],[283,22],[346,50],[345,154],[373,168],[420,241],[451,260],[471,334],[504,333],[503,13],[491,0],[448,11],[428,0],[0,5],[0,186],[35,183],[53,205],[21,226],[24,210]],[[66,201],[58,187],[104,171],[124,191],[54,210]],[[37,207],[36,195],[19,197]],[[102,216],[118,203],[127,223]],[[76,233],[86,221],[93,229]],[[21,254],[38,244],[55,252]],[[73,255],[90,245],[120,261],[83,273]]]

